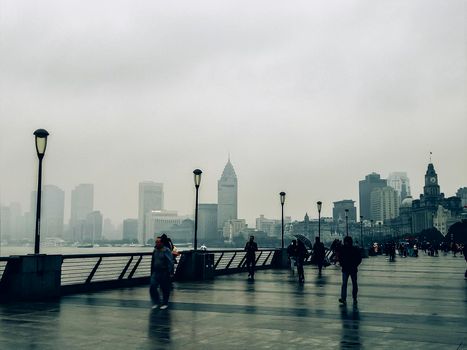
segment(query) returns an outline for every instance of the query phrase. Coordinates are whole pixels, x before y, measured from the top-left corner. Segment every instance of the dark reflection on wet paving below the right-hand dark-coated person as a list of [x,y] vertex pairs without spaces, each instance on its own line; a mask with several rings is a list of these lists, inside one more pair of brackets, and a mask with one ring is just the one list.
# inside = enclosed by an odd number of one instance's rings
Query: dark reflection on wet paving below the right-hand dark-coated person
[[360,349],[362,347],[360,339],[360,312],[357,305],[341,306],[341,349]]

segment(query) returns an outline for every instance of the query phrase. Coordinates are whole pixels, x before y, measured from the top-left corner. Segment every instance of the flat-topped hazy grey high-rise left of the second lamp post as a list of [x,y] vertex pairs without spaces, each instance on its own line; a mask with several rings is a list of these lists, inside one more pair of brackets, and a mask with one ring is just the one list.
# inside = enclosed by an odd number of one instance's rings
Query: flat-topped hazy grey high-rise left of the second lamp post
[[164,209],[164,185],[152,181],[140,182],[138,203],[138,240],[146,244],[154,235],[154,232],[148,232],[147,215],[153,210]]

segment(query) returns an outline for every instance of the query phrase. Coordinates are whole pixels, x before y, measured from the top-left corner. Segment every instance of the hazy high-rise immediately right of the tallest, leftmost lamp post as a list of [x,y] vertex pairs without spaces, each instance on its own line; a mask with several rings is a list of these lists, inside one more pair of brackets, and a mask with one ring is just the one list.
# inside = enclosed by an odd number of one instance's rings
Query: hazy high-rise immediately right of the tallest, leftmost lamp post
[[41,235],[63,237],[65,191],[54,185],[45,185],[42,191]]

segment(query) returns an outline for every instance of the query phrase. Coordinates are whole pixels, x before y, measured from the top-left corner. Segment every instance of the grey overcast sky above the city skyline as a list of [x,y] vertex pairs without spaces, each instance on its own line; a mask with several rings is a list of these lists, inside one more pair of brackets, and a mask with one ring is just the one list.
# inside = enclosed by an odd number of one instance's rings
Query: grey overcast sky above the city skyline
[[45,183],[95,185],[114,222],[138,182],[167,209],[217,200],[231,153],[239,216],[316,216],[358,199],[371,171],[428,153],[441,189],[467,185],[465,1],[0,0],[2,203],[29,206],[32,132],[51,136]]

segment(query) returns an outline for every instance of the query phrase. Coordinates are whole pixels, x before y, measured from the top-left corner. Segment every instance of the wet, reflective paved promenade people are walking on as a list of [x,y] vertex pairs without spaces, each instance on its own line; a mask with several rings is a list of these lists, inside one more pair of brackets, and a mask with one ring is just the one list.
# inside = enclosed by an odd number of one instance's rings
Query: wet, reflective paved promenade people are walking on
[[146,287],[0,305],[0,349],[467,349],[462,256],[360,271],[358,307],[338,304],[334,266],[307,266],[303,286],[287,270],[175,283],[168,310],[151,311]]

